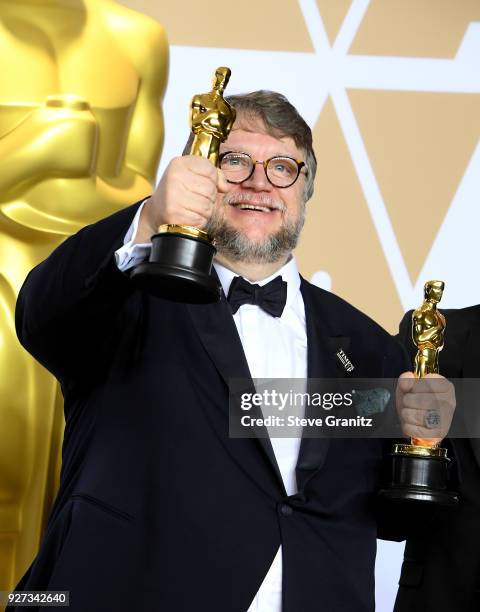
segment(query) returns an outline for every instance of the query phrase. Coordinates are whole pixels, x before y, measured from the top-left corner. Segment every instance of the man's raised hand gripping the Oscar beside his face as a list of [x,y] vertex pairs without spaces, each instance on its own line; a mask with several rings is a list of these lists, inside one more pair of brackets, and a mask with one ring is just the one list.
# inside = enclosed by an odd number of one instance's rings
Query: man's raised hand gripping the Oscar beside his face
[[164,223],[202,228],[210,219],[218,192],[228,191],[223,173],[208,159],[175,157],[145,204],[134,242],[150,242]]

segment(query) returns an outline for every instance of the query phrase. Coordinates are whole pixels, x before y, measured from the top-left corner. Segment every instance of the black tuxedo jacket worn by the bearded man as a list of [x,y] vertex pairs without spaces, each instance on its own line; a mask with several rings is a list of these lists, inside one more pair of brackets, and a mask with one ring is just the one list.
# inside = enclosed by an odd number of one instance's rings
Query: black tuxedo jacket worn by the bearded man
[[[270,441],[228,436],[228,380],[250,373],[225,298],[163,301],[117,269],[136,209],[66,240],[19,297],[19,338],[60,381],[66,430],[18,588],[69,590],[72,612],[245,612],[282,545],[284,612],[372,612],[384,442],[304,439],[288,497]],[[340,348],[351,375],[408,369],[368,317],[301,291],[310,377],[348,375]]]

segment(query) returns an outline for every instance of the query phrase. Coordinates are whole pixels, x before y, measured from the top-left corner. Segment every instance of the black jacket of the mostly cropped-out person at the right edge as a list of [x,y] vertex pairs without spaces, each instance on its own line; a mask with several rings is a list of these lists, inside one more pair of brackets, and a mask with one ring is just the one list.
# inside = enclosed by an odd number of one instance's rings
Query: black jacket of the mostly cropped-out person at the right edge
[[[480,305],[442,310],[447,320],[440,373],[480,378]],[[400,339],[413,356],[411,312],[400,324]],[[480,407],[480,406],[479,406]],[[422,537],[409,538],[395,612],[478,612],[480,610],[480,440],[453,439],[460,503],[439,510]]]

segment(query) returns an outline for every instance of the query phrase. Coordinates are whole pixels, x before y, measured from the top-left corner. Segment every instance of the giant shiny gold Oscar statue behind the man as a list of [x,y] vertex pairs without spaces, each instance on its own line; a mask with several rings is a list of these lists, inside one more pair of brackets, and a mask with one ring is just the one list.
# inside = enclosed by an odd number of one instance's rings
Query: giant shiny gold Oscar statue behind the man
[[104,0],[0,0],[0,590],[38,548],[62,432],[54,379],[19,345],[15,299],[69,234],[152,192],[168,47]]

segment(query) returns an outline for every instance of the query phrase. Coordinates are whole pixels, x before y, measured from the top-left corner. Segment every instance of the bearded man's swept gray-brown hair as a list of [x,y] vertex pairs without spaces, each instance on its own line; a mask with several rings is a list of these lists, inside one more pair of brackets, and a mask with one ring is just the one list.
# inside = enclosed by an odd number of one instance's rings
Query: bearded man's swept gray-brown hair
[[[228,96],[225,100],[237,111],[237,121],[239,115],[247,121],[260,119],[268,134],[275,138],[288,136],[305,152],[306,176],[303,199],[307,202],[313,195],[317,159],[313,150],[312,130],[293,104],[284,95],[266,90]],[[192,142],[193,134],[188,139],[184,155],[190,152]]]

